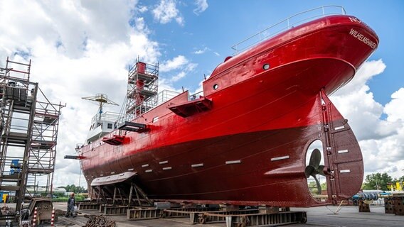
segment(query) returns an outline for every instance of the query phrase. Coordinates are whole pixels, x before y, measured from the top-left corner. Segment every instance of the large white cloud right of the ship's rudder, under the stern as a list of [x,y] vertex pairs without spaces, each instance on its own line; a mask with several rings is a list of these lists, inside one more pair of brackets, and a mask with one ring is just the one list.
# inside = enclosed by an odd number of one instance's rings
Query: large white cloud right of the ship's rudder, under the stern
[[[356,76],[330,98],[358,138],[365,175],[388,172],[400,177],[404,169],[404,88],[383,106],[373,99],[368,80],[386,69],[382,60],[365,62]],[[387,118],[383,119],[382,114]]]

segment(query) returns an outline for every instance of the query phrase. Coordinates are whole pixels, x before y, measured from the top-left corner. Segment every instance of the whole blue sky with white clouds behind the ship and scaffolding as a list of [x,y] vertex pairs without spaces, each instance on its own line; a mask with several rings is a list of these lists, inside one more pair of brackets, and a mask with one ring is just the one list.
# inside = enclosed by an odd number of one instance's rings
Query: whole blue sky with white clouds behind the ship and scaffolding
[[[60,118],[54,184],[79,184],[75,145],[105,93],[122,104],[127,68],[137,57],[159,62],[161,89],[195,92],[232,55],[232,45],[287,16],[335,1],[0,1],[0,67],[32,60],[31,80],[66,103]],[[366,174],[404,175],[403,1],[338,1],[381,43],[356,77],[331,99],[356,133]],[[119,111],[110,107],[107,111]],[[83,176],[80,184],[84,185]]]

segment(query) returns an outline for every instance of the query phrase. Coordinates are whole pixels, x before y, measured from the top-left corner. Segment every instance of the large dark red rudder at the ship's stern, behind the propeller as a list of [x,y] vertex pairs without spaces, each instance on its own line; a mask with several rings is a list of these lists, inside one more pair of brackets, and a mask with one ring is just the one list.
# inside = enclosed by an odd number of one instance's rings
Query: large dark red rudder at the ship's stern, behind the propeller
[[[363,157],[348,120],[324,91],[321,101],[324,169],[328,201],[337,204],[356,194],[363,182]],[[321,173],[322,174],[322,173]]]

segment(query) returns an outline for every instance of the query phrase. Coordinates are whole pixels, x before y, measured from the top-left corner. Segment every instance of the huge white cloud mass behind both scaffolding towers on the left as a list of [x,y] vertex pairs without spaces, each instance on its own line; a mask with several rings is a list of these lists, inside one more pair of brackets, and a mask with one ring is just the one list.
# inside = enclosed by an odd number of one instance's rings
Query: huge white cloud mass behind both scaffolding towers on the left
[[60,116],[55,186],[78,184],[78,160],[63,157],[75,155],[97,113],[96,104],[80,98],[105,93],[121,104],[127,65],[138,55],[145,62],[160,56],[144,18],[132,14],[135,6],[136,1],[0,1],[0,65],[7,56],[32,59],[31,81],[39,82],[50,101],[67,103]]

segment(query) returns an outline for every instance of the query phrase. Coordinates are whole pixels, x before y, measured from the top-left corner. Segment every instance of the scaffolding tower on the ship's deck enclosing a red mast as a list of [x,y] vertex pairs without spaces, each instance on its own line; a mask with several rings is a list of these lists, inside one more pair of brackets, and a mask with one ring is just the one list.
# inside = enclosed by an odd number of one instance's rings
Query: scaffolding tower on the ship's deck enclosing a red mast
[[157,94],[159,79],[159,64],[151,65],[140,62],[139,58],[129,67],[127,83],[128,118],[135,118],[157,105],[154,97]]

